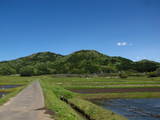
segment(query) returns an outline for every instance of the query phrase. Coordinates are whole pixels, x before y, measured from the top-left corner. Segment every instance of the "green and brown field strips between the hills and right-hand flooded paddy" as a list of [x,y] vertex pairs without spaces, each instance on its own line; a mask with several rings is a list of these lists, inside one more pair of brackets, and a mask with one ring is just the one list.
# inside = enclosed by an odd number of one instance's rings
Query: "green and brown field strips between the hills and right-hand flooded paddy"
[[[77,78],[43,76],[42,79],[49,80],[51,85],[61,86],[75,92],[80,91],[78,93],[84,92],[85,94],[80,95],[86,99],[160,97],[160,77],[129,77],[121,79],[109,77]],[[122,92],[119,92],[118,88]],[[88,89],[94,94],[90,94]],[[103,89],[107,89],[106,92]],[[113,89],[112,92],[107,92],[111,89]]]

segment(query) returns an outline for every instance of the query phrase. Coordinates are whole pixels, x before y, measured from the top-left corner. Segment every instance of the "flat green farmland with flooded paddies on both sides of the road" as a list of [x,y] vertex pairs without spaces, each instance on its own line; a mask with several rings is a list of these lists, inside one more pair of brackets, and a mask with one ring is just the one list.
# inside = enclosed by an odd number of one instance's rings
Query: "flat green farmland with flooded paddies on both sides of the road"
[[[43,88],[46,109],[55,120],[135,120],[159,119],[160,77],[19,77],[0,76],[0,105],[34,80]],[[150,100],[151,99],[151,100]],[[152,111],[139,112],[142,101],[156,101]],[[150,100],[150,101],[149,101]],[[132,103],[134,102],[134,103]],[[134,106],[131,106],[134,105]],[[116,107],[115,107],[116,106]],[[119,111],[126,106],[123,114]],[[145,105],[144,105],[145,106]],[[145,110],[149,109],[146,108]],[[66,110],[62,109],[65,108]],[[133,109],[134,108],[134,109]],[[129,112],[128,112],[129,110]],[[130,113],[132,111],[132,113]],[[135,112],[138,117],[135,117]]]

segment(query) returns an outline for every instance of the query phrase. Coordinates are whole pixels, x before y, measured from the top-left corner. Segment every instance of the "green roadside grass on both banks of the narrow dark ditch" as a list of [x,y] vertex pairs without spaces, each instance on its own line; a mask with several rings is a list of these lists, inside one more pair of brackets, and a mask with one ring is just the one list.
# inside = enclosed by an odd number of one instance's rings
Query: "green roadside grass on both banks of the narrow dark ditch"
[[[82,113],[85,115],[88,115],[91,120],[127,120],[126,118],[115,114],[110,110],[105,110],[89,101],[82,99],[78,93],[73,93],[63,87],[55,85],[53,80],[42,79],[41,85],[44,90],[46,107],[55,112],[56,120],[83,119],[83,117],[77,116],[77,113],[69,106],[70,104],[74,107],[78,107],[78,109],[83,111]],[[65,98],[68,104],[61,101],[60,98]]]

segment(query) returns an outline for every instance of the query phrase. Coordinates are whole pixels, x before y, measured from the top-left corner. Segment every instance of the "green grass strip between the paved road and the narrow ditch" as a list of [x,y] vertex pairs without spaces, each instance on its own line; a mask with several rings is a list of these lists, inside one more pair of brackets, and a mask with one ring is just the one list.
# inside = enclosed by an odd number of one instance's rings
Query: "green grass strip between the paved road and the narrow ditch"
[[[65,94],[64,90],[57,86],[50,86],[46,81],[41,81],[44,91],[45,105],[47,109],[53,111],[55,120],[82,120],[82,118],[67,104],[59,99],[61,94]],[[71,94],[67,93],[67,96]]]

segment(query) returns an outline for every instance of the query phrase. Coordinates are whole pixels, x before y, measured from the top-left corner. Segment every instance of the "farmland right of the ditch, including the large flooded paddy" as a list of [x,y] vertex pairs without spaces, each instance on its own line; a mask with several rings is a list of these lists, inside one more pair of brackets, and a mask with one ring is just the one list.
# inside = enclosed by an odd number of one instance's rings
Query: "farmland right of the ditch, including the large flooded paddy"
[[54,93],[59,98],[66,98],[67,103],[80,108],[91,119],[158,120],[160,118],[158,77],[121,79],[43,76],[41,80],[48,82],[49,86],[59,86],[55,90],[52,88]]

